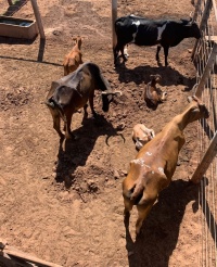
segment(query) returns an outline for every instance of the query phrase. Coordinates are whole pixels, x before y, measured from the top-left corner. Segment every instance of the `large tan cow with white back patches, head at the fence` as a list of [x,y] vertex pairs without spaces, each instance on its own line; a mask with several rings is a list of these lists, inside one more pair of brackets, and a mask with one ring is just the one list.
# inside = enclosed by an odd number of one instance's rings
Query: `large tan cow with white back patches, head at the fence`
[[137,205],[136,233],[140,232],[158,193],[166,188],[175,173],[178,154],[184,144],[183,129],[196,119],[207,118],[208,111],[196,97],[179,115],[175,116],[130,162],[130,169],[123,181],[123,196],[126,219]]

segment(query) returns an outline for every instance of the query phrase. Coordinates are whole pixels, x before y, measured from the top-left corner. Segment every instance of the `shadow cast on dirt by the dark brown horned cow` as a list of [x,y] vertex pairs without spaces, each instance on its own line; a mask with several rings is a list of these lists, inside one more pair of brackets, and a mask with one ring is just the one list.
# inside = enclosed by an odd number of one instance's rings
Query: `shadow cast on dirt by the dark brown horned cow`
[[103,115],[98,118],[84,118],[82,126],[73,131],[75,139],[60,141],[56,176],[58,182],[64,182],[66,188],[71,188],[75,179],[75,170],[78,166],[85,166],[97,139],[106,135],[107,138],[118,136],[118,130],[107,122]]

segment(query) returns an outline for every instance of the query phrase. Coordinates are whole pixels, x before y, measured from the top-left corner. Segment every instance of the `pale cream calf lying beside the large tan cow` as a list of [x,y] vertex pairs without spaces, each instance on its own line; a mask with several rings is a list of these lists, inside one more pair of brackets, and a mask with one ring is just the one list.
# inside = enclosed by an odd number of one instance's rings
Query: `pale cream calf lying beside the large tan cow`
[[137,124],[132,129],[132,140],[138,151],[154,137],[154,130],[146,128],[143,124]]

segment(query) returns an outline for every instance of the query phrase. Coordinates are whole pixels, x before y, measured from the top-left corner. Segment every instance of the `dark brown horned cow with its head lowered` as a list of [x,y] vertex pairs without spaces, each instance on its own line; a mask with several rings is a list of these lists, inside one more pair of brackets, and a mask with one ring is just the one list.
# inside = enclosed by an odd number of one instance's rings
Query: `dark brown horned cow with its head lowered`
[[52,82],[46,104],[53,118],[53,128],[58,131],[61,139],[64,138],[60,129],[61,118],[65,124],[65,137],[69,139],[72,137],[72,116],[80,107],[84,107],[86,111],[88,100],[91,112],[97,118],[97,113],[93,109],[95,89],[102,91],[102,110],[104,112],[108,111],[113,96],[122,94],[120,91],[112,91],[108,81],[101,74],[99,66],[91,62],[84,63],[74,73]]

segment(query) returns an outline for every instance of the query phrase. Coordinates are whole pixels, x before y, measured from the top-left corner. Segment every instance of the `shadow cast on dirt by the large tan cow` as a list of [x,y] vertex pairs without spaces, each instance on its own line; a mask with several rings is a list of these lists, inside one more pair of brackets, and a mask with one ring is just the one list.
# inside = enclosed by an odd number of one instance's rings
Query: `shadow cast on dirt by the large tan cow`
[[194,201],[192,211],[195,213],[195,206],[199,206],[197,194],[197,185],[183,180],[173,181],[161,192],[158,202],[152,207],[135,242],[129,232],[129,221],[125,219],[129,267],[169,266],[186,206]]

